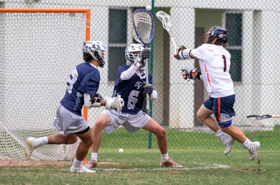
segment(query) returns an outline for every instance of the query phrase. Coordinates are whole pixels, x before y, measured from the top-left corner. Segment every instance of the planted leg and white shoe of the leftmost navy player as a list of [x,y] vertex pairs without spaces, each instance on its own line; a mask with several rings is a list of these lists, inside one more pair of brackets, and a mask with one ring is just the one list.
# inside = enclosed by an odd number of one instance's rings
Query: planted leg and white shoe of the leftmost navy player
[[92,145],[92,135],[90,130],[83,134],[76,134],[82,141],[80,142],[74,163],[70,168],[70,172],[95,172],[94,170],[89,170],[83,166],[83,159],[88,154],[88,149]]

